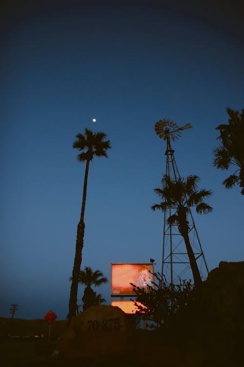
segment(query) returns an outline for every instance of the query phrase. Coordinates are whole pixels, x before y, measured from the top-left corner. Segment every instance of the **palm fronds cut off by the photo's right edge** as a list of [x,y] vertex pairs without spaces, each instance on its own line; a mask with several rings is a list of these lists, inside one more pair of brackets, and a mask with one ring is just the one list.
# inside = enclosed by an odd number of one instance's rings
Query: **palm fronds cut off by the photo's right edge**
[[223,181],[226,188],[231,188],[235,184],[242,187],[244,195],[244,110],[242,114],[238,111],[227,108],[229,124],[222,124],[216,127],[220,131],[217,139],[221,140],[221,145],[214,149],[214,166],[222,170],[228,169],[230,164],[237,167],[235,172]]

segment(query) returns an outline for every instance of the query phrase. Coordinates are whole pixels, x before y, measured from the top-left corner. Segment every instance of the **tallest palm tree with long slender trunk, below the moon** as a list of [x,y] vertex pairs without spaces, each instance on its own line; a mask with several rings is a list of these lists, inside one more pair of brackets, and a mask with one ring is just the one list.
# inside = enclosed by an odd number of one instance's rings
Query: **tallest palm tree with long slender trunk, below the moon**
[[73,148],[78,149],[81,153],[77,156],[79,162],[86,162],[85,166],[85,176],[83,185],[83,197],[81,205],[81,217],[77,226],[77,236],[76,236],[76,251],[74,259],[74,267],[72,272],[72,283],[70,287],[70,298],[69,298],[69,313],[68,322],[71,321],[72,317],[76,315],[77,311],[77,291],[78,291],[78,280],[79,272],[81,269],[82,260],[82,248],[84,240],[84,212],[85,212],[85,200],[86,200],[86,188],[87,188],[87,178],[89,164],[96,157],[106,157],[107,150],[111,148],[110,141],[105,140],[106,134],[102,132],[93,133],[91,130],[85,128],[84,135],[77,134],[77,140],[73,143]]

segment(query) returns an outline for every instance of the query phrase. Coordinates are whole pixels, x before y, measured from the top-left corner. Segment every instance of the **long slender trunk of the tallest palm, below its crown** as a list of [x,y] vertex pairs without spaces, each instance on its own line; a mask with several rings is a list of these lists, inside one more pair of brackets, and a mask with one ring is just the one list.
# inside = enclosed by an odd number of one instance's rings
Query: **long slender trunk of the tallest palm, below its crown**
[[86,161],[86,166],[85,166],[83,197],[82,197],[82,205],[81,205],[81,218],[77,226],[76,252],[75,252],[74,267],[73,267],[73,272],[72,272],[72,283],[70,287],[69,313],[67,316],[68,323],[70,323],[72,317],[76,315],[76,311],[77,311],[78,278],[79,278],[79,272],[81,269],[82,248],[83,248],[83,243],[84,243],[84,232],[85,232],[84,213],[85,213],[85,200],[86,200],[89,162],[90,161]]

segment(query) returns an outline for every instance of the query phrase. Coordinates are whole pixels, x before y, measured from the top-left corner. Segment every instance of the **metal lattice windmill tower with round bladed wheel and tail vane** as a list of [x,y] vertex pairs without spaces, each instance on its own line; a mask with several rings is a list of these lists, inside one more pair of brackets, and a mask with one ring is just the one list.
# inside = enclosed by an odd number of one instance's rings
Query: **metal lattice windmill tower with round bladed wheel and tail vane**
[[[170,176],[174,180],[180,178],[180,173],[175,161],[174,150],[171,147],[170,140],[172,139],[174,141],[175,139],[179,139],[182,135],[182,130],[189,129],[191,127],[192,126],[190,124],[179,127],[175,122],[165,119],[159,120],[155,125],[156,134],[166,141],[166,175]],[[174,214],[174,212],[175,209],[173,207],[167,208],[164,212],[163,224],[162,281],[164,275],[166,281],[171,284],[179,283],[179,277],[181,279],[191,279],[193,281],[190,262],[183,237],[179,232],[177,225],[169,225],[167,223],[167,219]],[[190,244],[197,261],[201,278],[204,280],[208,275],[208,268],[190,208],[187,220],[189,221],[188,235]]]

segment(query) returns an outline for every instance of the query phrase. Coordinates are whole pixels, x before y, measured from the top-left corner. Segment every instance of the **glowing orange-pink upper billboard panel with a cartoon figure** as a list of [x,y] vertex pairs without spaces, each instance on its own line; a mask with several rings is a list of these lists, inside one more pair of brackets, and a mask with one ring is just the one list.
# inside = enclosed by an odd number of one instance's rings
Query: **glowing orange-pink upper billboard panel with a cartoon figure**
[[[150,273],[151,272],[151,273]],[[130,283],[137,287],[153,286],[153,264],[111,264],[111,296],[135,295]]]

